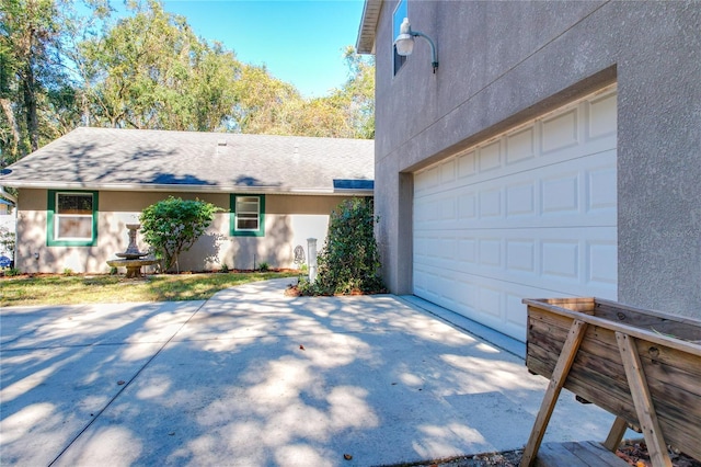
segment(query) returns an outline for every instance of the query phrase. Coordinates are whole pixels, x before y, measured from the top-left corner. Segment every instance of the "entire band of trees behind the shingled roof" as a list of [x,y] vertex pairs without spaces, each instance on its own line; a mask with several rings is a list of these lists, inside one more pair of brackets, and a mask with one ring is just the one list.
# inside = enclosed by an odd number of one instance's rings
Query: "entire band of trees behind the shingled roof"
[[72,0],[0,0],[0,167],[79,125],[375,135],[375,64],[352,46],[347,81],[306,99],[159,0],[129,0],[122,18],[83,1],[79,13]]

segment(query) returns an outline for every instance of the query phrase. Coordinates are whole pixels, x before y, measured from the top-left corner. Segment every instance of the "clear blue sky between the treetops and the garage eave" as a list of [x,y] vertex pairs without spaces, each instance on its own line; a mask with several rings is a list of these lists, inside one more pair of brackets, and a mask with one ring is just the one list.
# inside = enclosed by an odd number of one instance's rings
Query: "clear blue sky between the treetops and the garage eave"
[[166,0],[195,33],[238,59],[265,65],[304,96],[327,95],[347,79],[343,49],[355,46],[363,0]]

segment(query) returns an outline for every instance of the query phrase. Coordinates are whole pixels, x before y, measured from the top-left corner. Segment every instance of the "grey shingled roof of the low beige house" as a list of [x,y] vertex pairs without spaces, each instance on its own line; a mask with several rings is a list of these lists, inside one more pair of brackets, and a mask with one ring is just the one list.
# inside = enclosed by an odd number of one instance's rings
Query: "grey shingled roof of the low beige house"
[[76,128],[2,171],[37,189],[372,194],[374,141]]

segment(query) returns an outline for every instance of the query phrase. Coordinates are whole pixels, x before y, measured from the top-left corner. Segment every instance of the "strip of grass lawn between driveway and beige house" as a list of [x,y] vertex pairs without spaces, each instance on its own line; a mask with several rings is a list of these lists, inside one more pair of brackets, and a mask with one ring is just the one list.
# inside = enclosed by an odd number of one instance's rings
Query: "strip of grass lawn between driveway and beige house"
[[0,306],[202,300],[234,285],[298,275],[295,272],[256,272],[159,274],[139,280],[119,275],[3,277],[0,278]]

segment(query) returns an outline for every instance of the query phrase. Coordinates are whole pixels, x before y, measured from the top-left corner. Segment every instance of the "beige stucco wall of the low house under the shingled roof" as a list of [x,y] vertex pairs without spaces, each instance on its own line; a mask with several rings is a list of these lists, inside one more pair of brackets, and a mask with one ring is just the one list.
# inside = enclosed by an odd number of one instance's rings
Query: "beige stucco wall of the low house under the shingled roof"
[[[140,212],[169,195],[199,198],[221,207],[207,232],[180,259],[181,271],[254,269],[261,262],[272,267],[295,267],[294,251],[307,239],[324,243],[331,210],[343,196],[266,195],[265,236],[229,235],[229,194],[192,194],[161,192],[100,192],[97,244],[95,247],[47,247],[46,190],[20,190],[18,206],[18,258],[22,272],[106,273],[106,261],[126,250],[127,224],[138,221]],[[139,238],[139,249],[148,246]]]

